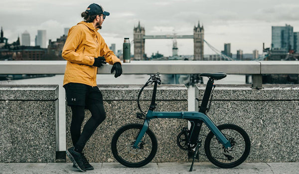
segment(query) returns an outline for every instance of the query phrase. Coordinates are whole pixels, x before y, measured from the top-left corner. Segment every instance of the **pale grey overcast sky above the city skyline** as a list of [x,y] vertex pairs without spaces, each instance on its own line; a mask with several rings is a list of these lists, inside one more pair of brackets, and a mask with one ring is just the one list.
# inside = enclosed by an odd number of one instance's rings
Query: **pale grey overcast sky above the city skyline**
[[[270,47],[271,26],[289,24],[299,32],[299,0],[0,0],[0,25],[9,43],[27,30],[33,46],[38,29],[56,40],[65,27],[82,20],[81,12],[93,2],[110,12],[99,32],[116,49],[122,49],[124,37],[133,40],[138,21],[146,35],[193,35],[200,21],[204,39],[219,51],[231,43],[233,54],[238,49],[261,53],[263,42]],[[193,55],[193,39],[178,39],[177,44],[180,55]],[[148,56],[157,51],[169,56],[171,48],[171,39],[146,40]],[[206,44],[204,54],[213,54]]]

